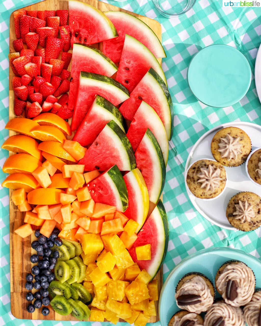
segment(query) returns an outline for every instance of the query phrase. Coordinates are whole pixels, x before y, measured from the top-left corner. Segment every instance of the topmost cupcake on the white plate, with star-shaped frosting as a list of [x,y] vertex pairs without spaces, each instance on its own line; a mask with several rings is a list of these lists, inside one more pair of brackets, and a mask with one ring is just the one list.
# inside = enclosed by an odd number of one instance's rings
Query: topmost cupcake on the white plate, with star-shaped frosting
[[219,130],[211,141],[211,152],[222,165],[233,167],[245,162],[251,152],[248,135],[236,127]]

